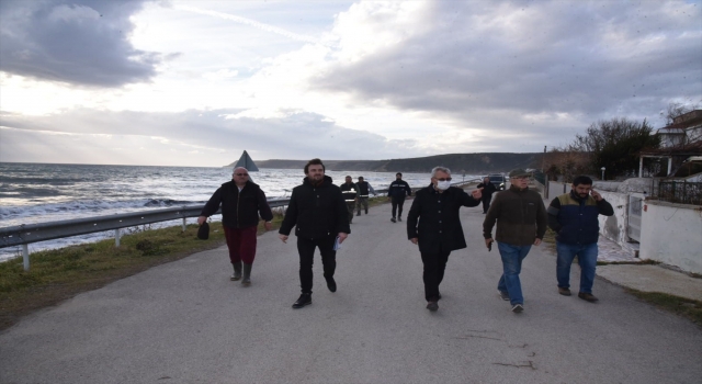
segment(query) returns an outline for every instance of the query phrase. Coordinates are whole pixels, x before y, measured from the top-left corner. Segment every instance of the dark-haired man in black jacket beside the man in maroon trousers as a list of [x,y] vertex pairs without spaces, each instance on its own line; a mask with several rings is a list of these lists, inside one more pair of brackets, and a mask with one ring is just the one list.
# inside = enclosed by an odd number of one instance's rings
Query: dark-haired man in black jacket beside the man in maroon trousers
[[302,295],[293,304],[293,308],[302,308],[312,304],[312,283],[315,248],[321,253],[327,287],[337,292],[333,273],[337,268],[337,249],[351,233],[349,212],[341,196],[339,187],[325,176],[325,166],[319,159],[312,159],[305,166],[302,185],[293,189],[285,218],[279,230],[279,237],[287,242],[287,237],[295,227],[297,251],[299,252],[299,285]]

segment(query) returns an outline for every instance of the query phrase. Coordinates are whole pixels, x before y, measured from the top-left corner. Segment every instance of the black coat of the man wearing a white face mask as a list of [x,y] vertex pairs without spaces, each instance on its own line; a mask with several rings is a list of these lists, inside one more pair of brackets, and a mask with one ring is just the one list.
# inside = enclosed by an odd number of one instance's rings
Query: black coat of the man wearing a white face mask
[[451,187],[439,193],[433,184],[429,184],[417,191],[412,207],[409,208],[407,238],[419,238],[419,251],[422,253],[465,248],[458,212],[462,206],[478,204],[479,200],[460,188]]

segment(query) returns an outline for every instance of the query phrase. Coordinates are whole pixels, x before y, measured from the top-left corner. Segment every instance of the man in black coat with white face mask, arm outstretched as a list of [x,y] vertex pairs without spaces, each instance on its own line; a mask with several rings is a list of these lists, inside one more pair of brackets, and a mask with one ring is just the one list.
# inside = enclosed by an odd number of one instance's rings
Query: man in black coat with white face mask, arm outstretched
[[[431,184],[417,192],[407,215],[407,238],[419,245],[424,264],[424,298],[427,309],[439,309],[439,284],[452,250],[466,247],[458,211],[462,206],[480,204],[480,191],[468,195],[462,189],[451,187],[449,168],[434,167]],[[417,223],[419,222],[419,224]]]

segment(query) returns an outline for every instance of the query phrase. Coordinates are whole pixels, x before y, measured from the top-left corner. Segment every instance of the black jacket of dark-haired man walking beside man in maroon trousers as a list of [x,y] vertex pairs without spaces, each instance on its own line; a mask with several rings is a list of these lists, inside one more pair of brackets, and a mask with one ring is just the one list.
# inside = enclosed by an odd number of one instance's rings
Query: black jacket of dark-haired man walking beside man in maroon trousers
[[330,177],[325,176],[319,187],[314,187],[305,178],[302,185],[293,189],[279,233],[288,236],[293,226],[295,236],[307,239],[351,233],[347,204],[341,190],[331,183]]

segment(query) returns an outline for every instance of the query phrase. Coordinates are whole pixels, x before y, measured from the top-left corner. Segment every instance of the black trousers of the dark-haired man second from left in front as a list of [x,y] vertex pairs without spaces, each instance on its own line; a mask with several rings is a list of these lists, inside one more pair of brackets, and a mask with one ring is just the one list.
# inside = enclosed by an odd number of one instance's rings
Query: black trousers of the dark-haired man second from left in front
[[337,236],[327,236],[320,239],[297,238],[297,251],[299,252],[299,286],[303,293],[312,293],[313,272],[312,266],[315,263],[315,248],[319,248],[321,253],[321,266],[325,271],[325,279],[333,278],[337,269],[337,251],[333,250],[333,242]]

